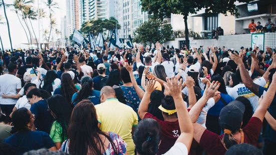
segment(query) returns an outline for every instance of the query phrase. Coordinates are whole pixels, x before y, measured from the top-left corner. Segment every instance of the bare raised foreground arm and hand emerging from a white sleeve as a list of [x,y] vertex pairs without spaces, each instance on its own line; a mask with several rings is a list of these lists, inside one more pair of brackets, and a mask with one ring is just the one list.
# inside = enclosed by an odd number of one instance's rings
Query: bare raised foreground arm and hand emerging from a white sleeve
[[173,76],[171,80],[168,77],[166,78],[166,80],[169,87],[169,94],[173,97],[175,103],[179,128],[181,131],[180,136],[177,138],[175,142],[184,143],[189,152],[193,139],[194,129],[192,121],[189,118],[188,110],[181,96],[182,79],[180,79],[180,81],[178,82],[178,80]]

